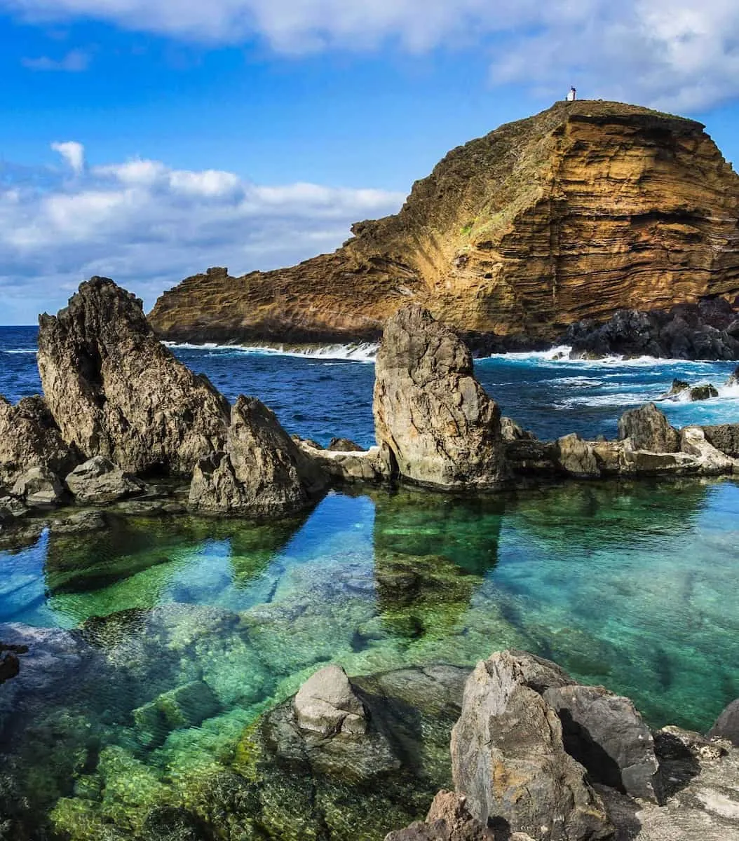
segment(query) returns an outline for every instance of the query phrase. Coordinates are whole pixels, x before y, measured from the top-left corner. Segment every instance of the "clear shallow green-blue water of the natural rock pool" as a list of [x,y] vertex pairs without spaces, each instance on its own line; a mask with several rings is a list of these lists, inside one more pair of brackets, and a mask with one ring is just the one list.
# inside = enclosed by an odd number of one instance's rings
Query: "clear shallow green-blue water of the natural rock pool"
[[739,696],[737,512],[734,482],[572,484],[47,535],[0,553],[0,622],[79,627],[96,659],[31,697],[22,743],[6,717],[13,779],[73,838],[136,833],[153,803],[236,761],[244,728],[320,664],[367,674],[511,646],[630,696],[655,726],[704,729]]

